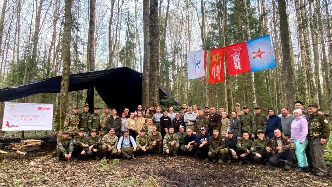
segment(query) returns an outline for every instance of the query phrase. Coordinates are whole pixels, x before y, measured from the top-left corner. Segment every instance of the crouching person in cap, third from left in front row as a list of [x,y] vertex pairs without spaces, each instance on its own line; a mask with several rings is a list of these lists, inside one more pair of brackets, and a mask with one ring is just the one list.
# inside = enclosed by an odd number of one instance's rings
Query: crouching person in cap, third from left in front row
[[87,153],[90,158],[95,158],[95,160],[100,160],[102,149],[102,139],[97,135],[97,129],[91,129],[88,139],[86,139]]

